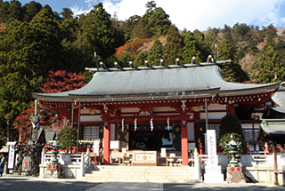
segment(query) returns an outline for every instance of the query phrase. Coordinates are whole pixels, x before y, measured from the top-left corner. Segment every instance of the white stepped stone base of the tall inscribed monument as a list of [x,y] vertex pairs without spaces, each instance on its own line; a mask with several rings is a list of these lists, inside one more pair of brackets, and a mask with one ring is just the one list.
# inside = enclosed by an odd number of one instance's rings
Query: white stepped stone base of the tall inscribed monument
[[205,166],[204,183],[226,183],[222,166],[208,165]]

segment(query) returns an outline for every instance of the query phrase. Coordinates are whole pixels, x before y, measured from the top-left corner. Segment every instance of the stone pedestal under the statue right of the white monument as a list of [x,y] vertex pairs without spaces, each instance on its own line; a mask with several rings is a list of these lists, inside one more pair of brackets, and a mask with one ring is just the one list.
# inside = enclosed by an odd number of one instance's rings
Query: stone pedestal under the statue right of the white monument
[[229,183],[246,183],[241,167],[227,167],[226,181]]

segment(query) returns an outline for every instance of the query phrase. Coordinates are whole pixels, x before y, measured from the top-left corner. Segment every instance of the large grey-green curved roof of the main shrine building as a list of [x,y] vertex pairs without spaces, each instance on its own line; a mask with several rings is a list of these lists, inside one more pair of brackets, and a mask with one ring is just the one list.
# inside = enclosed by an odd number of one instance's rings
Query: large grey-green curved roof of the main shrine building
[[276,84],[225,82],[216,64],[96,72],[83,88],[60,93],[33,93],[45,101],[118,101],[191,99],[273,92]]

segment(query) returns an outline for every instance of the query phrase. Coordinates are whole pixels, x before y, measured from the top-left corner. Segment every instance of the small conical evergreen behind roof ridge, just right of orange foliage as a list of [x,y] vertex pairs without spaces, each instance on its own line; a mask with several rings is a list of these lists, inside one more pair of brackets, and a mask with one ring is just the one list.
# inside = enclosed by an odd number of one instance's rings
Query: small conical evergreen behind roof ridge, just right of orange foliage
[[159,66],[161,59],[163,59],[163,46],[157,38],[148,53],[148,61],[151,66]]

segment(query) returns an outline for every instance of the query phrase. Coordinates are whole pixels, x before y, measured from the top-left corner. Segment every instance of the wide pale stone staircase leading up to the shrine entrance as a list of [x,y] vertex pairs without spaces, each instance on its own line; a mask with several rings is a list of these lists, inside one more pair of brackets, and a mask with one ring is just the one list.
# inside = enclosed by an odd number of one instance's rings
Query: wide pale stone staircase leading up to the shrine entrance
[[[91,169],[91,168],[89,168]],[[94,166],[93,171],[85,173],[86,180],[98,182],[160,182],[160,183],[197,183],[195,169],[190,166]]]

